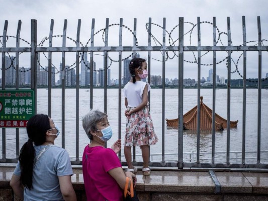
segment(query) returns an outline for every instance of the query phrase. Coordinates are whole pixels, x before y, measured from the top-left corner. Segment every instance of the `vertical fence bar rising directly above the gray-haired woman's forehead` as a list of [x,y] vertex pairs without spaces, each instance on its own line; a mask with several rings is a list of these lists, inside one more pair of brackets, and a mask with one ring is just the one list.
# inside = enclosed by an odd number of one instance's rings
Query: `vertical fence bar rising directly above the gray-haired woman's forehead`
[[[106,18],[105,27],[105,47],[108,46],[108,31],[109,31],[109,18]],[[107,113],[107,56],[108,52],[104,51],[104,112]],[[105,143],[106,145],[106,143]]]

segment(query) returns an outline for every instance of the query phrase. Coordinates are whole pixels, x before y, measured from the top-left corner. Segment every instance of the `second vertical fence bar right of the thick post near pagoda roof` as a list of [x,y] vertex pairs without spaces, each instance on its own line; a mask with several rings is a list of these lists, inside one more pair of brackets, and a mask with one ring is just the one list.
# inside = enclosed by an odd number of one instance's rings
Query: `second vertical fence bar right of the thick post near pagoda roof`
[[[217,45],[216,38],[216,18],[213,17],[213,46]],[[216,90],[214,88],[214,83],[216,84],[216,51],[213,51],[213,100],[212,100],[212,153],[211,153],[211,162],[215,163],[215,99],[216,99]],[[215,76],[214,76],[215,73]],[[215,81],[215,82],[214,82]]]

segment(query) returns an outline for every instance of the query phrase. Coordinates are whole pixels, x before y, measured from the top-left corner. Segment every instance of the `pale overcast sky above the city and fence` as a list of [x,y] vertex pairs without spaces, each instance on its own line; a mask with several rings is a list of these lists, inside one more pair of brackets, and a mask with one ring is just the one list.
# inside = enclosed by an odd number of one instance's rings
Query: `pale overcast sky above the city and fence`
[[[257,33],[257,16],[261,20],[262,39],[268,40],[268,1],[266,0],[24,0],[15,1],[1,0],[0,8],[0,35],[3,33],[5,20],[8,20],[7,35],[16,36],[18,21],[22,20],[21,38],[30,42],[31,19],[37,20],[38,29],[38,44],[44,37],[49,36],[50,21],[54,19],[53,35],[62,35],[64,19],[67,19],[67,36],[76,39],[76,29],[78,19],[81,19],[81,33],[80,41],[83,45],[86,44],[91,35],[92,19],[95,19],[95,32],[105,28],[106,18],[109,18],[109,24],[119,23],[120,18],[123,18],[123,24],[133,30],[134,18],[137,18],[137,40],[138,45],[146,46],[148,43],[148,33],[145,24],[148,19],[152,19],[152,23],[162,26],[163,18],[166,18],[166,30],[170,32],[173,27],[178,25],[178,17],[184,17],[184,22],[191,22],[196,24],[197,17],[202,21],[213,22],[213,17],[216,17],[216,25],[220,32],[227,33],[227,17],[230,17],[231,22],[231,38],[233,45],[242,44],[242,16],[246,19],[246,33],[247,41],[256,41],[258,39]],[[184,31],[187,33],[191,29],[190,24],[185,24]],[[109,28],[109,46],[117,46],[119,44],[119,26],[112,26]],[[152,25],[152,34],[158,41],[162,43],[162,29]],[[213,45],[213,28],[208,23],[201,24],[201,45]],[[171,34],[173,40],[178,37],[178,27],[174,29]],[[218,37],[218,36],[217,36]],[[2,40],[2,39],[1,39]],[[221,34],[221,41],[227,45],[227,36]],[[61,46],[62,38],[53,38],[53,46]],[[190,34],[185,35],[185,45],[190,45]],[[197,31],[193,30],[191,36],[191,44],[197,45]],[[255,45],[256,42],[248,45]],[[267,45],[268,42],[264,42]],[[21,47],[28,47],[29,45],[21,41]],[[67,40],[67,46],[75,46],[75,44]],[[95,36],[95,45],[104,46],[102,42],[102,32]],[[133,36],[127,29],[123,29],[123,46],[133,45]],[[155,44],[152,40],[152,45]],[[168,45],[168,36],[166,35],[166,45]],[[176,43],[178,45],[178,42]],[[221,45],[220,42],[218,45]],[[8,47],[15,47],[16,41],[10,39],[7,44]],[[44,43],[44,47],[48,46],[48,41]],[[102,54],[102,53],[99,53]],[[123,56],[128,56],[130,53],[124,53]],[[234,52],[232,58],[234,62],[237,61],[241,52]],[[12,54],[11,54],[12,55]],[[109,54],[114,60],[118,60],[117,53]],[[141,52],[141,57],[146,58],[147,52]],[[169,54],[173,56],[172,53]],[[195,53],[197,57],[197,53]],[[257,77],[258,57],[257,52],[247,53],[247,78]],[[194,61],[195,57],[192,52],[184,54],[185,60]],[[217,53],[217,62],[223,60],[227,54],[225,52]],[[156,60],[161,60],[160,52],[153,52],[151,54],[151,74],[162,74],[162,63]],[[61,62],[61,53],[53,53],[52,63],[59,68]],[[155,59],[155,60],[154,60]],[[97,69],[103,68],[103,57],[99,55],[94,56],[97,62]],[[75,53],[66,54],[66,65],[71,65],[75,62]],[[203,64],[212,64],[213,54],[210,52],[204,55],[201,59]],[[166,77],[178,77],[178,58],[166,61]],[[238,70],[243,74],[242,57],[238,62]],[[41,56],[41,64],[48,65],[45,56]],[[268,73],[268,53],[262,53],[262,77]],[[20,55],[20,66],[29,67],[30,54]],[[201,77],[207,78],[209,69],[212,66],[202,66]],[[235,66],[232,63],[232,71]],[[111,66],[112,78],[118,78],[118,63],[113,63]],[[217,65],[216,73],[219,76],[227,78],[226,62]],[[197,79],[197,64],[185,62],[184,69],[185,78]],[[232,73],[232,78],[240,78],[237,72]]]

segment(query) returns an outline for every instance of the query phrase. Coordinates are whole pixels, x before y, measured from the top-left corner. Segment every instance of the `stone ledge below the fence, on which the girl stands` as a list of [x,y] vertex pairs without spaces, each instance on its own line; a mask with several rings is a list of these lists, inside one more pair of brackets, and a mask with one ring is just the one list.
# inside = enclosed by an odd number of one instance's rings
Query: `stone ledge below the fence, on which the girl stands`
[[[9,185],[14,167],[0,167],[0,200],[18,200]],[[71,176],[77,200],[86,200],[81,168]],[[208,171],[152,170],[150,176],[137,172],[140,200],[268,200],[268,172],[215,171],[221,191]]]

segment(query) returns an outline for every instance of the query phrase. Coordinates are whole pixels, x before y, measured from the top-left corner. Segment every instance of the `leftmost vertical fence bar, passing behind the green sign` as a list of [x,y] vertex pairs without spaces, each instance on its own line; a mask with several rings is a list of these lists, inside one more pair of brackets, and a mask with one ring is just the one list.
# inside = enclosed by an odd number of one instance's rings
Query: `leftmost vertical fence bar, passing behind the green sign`
[[[7,47],[7,31],[9,22],[6,20],[3,31],[2,47]],[[2,89],[6,89],[6,53],[2,52]],[[6,159],[6,129],[2,128],[2,158]]]

